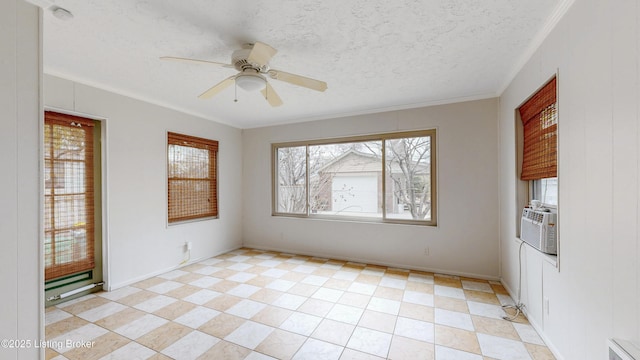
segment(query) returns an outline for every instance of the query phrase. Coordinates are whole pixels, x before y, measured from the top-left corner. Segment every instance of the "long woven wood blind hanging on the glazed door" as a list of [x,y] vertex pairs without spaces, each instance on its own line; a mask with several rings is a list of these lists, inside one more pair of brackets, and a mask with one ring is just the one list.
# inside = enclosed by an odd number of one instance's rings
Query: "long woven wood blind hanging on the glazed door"
[[45,280],[93,269],[92,120],[45,112]]

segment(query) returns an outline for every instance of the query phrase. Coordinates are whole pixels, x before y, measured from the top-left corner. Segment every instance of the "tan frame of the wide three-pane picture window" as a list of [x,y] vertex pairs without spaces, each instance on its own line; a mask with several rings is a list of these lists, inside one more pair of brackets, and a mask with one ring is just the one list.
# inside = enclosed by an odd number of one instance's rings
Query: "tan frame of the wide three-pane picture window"
[[[387,214],[387,169],[386,169],[386,140],[402,139],[402,138],[415,138],[415,137],[430,137],[430,181],[431,181],[431,219],[430,220],[414,220],[414,219],[397,219],[388,218]],[[328,214],[314,214],[311,212],[311,205],[309,201],[310,196],[310,173],[309,173],[309,147],[317,145],[334,145],[353,142],[367,142],[367,141],[381,141],[381,190],[378,195],[381,195],[381,216],[380,217],[365,217],[365,216],[344,216],[344,215],[328,215]],[[305,148],[305,197],[306,211],[303,213],[288,213],[278,211],[278,149],[288,147],[304,147]],[[404,224],[404,225],[422,225],[422,226],[437,226],[437,131],[436,129],[423,129],[423,130],[411,130],[402,132],[388,132],[377,133],[369,135],[356,135],[346,137],[335,138],[323,138],[314,140],[301,140],[291,142],[278,142],[271,144],[271,215],[277,217],[290,217],[290,218],[306,218],[306,219],[324,219],[324,220],[337,220],[337,221],[361,221],[372,223],[389,223],[389,224]]]

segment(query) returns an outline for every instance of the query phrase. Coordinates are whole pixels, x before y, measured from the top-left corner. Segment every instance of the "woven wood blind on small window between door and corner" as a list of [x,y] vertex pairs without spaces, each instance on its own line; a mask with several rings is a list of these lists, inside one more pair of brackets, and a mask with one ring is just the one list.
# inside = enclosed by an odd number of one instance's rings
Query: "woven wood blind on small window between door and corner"
[[215,140],[168,134],[169,222],[218,216]]

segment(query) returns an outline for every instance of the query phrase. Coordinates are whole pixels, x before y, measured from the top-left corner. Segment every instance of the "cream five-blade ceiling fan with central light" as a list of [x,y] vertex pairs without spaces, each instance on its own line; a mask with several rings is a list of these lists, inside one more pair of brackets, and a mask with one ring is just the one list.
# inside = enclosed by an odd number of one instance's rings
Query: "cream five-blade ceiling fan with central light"
[[222,80],[200,94],[198,96],[200,99],[209,99],[235,83],[237,86],[247,91],[260,90],[271,106],[282,105],[282,100],[265,78],[265,74],[269,75],[272,79],[306,87],[311,90],[325,91],[327,89],[327,83],[324,81],[271,69],[269,67],[269,60],[271,60],[277,52],[278,50],[258,41],[254,44],[245,44],[242,49],[234,51],[231,55],[231,64],[173,56],[163,56],[160,59],[217,65],[227,68],[235,68],[238,70],[237,74]]

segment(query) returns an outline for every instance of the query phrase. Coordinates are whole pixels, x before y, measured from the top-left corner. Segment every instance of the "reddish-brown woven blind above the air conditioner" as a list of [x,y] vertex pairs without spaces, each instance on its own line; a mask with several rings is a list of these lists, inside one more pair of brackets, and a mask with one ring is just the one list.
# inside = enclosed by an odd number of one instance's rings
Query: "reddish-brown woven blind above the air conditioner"
[[558,173],[558,113],[556,78],[545,84],[519,109],[524,143],[522,180],[556,177]]

